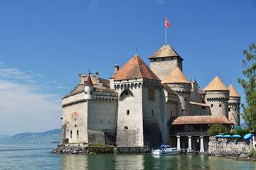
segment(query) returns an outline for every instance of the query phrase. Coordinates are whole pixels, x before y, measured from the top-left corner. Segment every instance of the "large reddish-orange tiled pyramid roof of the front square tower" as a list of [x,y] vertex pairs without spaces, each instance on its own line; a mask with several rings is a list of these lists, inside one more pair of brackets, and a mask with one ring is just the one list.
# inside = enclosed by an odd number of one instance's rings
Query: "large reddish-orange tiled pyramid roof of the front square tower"
[[160,81],[160,79],[156,77],[156,74],[154,74],[154,72],[152,72],[137,55],[134,55],[134,57],[114,74],[114,81],[137,78],[155,79]]

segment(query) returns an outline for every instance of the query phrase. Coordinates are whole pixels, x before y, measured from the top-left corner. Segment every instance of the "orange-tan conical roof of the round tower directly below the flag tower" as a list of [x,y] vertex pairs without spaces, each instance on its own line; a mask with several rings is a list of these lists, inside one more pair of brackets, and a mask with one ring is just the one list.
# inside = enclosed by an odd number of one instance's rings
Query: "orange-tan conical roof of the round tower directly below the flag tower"
[[161,84],[170,84],[170,83],[188,83],[191,84],[190,81],[185,77],[181,69],[176,67],[169,76],[167,76],[164,80],[161,81]]

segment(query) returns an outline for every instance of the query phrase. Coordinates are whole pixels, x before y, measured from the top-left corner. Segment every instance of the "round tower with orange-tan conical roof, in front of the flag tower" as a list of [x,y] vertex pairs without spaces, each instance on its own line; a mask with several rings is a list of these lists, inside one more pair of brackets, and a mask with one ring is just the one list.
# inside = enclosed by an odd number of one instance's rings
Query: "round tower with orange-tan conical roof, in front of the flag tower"
[[191,94],[191,82],[185,77],[179,67],[176,67],[166,79],[161,81],[161,84],[168,84],[168,86],[178,94],[181,105],[182,115],[188,115],[190,110],[189,100]]

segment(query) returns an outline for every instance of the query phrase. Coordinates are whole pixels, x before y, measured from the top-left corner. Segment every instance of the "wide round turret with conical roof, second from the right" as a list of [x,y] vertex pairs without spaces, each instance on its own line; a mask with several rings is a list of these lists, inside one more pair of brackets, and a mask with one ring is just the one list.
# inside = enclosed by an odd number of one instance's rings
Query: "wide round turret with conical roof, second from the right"
[[206,86],[206,104],[210,106],[211,115],[225,115],[228,118],[229,90],[223,81],[216,76]]

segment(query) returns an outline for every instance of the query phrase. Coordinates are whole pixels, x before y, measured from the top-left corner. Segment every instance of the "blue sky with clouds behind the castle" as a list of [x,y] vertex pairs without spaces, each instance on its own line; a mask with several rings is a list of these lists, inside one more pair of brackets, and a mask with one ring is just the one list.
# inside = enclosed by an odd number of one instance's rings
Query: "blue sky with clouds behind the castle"
[[[60,99],[80,72],[108,79],[135,52],[161,47],[164,17],[183,72],[218,75],[242,98],[242,50],[255,42],[256,1],[0,1],[0,134],[60,128]],[[9,127],[9,128],[6,128]]]

